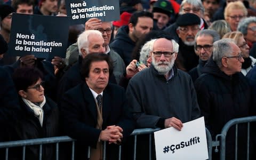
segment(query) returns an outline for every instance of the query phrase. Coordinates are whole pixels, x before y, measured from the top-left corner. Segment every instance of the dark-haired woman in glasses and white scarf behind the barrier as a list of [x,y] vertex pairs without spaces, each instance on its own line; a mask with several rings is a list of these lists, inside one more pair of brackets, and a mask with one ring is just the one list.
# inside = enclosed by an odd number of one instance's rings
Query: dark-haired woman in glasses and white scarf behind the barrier
[[[18,68],[14,71],[13,82],[19,94],[21,112],[15,133],[11,135],[12,140],[58,136],[59,110],[50,98],[45,97],[42,79],[43,75],[37,68]],[[44,145],[42,151],[42,159],[54,157],[53,146]],[[20,158],[20,154],[12,155]],[[38,158],[39,146],[26,147],[26,159]]]

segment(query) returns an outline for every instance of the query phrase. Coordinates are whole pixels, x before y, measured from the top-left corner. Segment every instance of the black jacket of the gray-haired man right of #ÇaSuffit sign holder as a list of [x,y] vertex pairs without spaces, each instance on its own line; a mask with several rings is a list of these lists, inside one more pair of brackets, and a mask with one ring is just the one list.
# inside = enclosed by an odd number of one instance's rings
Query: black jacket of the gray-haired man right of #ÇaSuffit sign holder
[[[215,137],[230,119],[249,116],[250,87],[242,73],[228,76],[212,59],[206,63],[202,73],[195,82],[198,105],[206,127]],[[238,126],[238,159],[246,157],[246,131],[246,126]],[[226,139],[226,159],[234,159],[234,156],[235,128],[231,127]]]

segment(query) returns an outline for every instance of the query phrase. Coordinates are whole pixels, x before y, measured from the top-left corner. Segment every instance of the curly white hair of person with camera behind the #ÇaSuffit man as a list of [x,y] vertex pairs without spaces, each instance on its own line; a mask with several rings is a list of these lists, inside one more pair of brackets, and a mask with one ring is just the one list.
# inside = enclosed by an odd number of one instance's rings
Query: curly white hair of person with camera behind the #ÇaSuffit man
[[147,64],[147,59],[149,57],[150,51],[153,51],[153,45],[156,39],[151,39],[150,41],[146,42],[140,50],[140,62]]

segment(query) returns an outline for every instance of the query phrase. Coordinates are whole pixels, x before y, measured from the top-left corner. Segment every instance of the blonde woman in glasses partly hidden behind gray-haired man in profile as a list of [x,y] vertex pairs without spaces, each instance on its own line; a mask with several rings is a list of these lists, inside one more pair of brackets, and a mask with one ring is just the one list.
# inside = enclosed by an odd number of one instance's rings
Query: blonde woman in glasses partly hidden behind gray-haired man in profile
[[232,38],[235,40],[236,45],[242,52],[244,62],[242,63],[242,70],[244,76],[252,69],[256,63],[256,59],[249,55],[250,47],[247,45],[244,35],[239,31],[232,31],[223,36],[223,38]]

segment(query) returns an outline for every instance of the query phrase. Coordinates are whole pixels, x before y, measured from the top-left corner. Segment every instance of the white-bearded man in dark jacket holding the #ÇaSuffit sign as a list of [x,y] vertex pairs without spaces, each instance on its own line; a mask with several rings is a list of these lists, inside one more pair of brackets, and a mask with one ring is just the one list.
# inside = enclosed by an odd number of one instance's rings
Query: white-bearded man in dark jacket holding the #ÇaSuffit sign
[[174,127],[200,116],[191,77],[174,62],[179,44],[171,37],[154,40],[151,66],[133,76],[126,89],[128,106],[138,128]]

